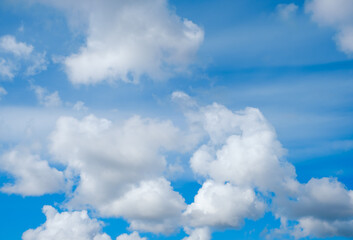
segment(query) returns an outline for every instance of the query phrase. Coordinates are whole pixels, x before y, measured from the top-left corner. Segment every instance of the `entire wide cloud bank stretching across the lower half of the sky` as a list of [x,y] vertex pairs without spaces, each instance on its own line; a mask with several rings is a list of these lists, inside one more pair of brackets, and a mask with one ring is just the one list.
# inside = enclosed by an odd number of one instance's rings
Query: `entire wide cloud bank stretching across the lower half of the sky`
[[[209,240],[212,231],[239,229],[246,219],[256,221],[266,212],[281,220],[270,234],[353,236],[353,191],[333,178],[300,183],[258,109],[199,106],[183,92],[172,99],[185,113],[185,131],[168,120],[139,116],[119,122],[94,115],[59,118],[49,152],[51,162],[64,170],[12,150],[0,166],[18,179],[7,192],[41,195],[66,189],[68,213],[56,213],[60,216],[90,209],[98,217],[122,217],[135,231],[168,234],[182,227],[189,234],[185,240]],[[169,154],[185,153],[202,184],[189,205],[165,176]],[[51,227],[43,226],[24,236],[47,234]]]

